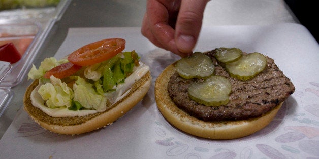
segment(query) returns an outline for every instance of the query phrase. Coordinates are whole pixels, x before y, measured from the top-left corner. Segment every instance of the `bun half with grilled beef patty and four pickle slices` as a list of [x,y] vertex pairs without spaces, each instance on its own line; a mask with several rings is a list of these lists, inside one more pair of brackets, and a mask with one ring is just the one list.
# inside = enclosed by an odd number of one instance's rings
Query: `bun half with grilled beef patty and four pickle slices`
[[209,139],[263,129],[294,91],[273,59],[237,48],[196,52],[166,67],[155,82],[157,107],[166,120]]

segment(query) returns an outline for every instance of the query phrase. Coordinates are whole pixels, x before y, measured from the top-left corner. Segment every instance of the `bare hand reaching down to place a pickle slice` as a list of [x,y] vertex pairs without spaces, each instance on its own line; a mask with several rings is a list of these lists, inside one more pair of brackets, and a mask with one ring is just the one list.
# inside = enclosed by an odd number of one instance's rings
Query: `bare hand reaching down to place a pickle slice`
[[141,33],[181,57],[191,55],[209,0],[148,0]]

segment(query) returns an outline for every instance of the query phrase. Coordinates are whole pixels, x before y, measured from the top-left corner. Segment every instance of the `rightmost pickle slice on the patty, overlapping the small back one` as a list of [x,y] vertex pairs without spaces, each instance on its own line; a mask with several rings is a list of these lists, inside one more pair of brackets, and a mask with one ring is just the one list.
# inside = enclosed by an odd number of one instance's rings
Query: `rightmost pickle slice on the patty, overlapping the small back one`
[[267,59],[261,53],[250,53],[235,62],[225,65],[228,73],[239,80],[246,81],[254,78],[267,66]]

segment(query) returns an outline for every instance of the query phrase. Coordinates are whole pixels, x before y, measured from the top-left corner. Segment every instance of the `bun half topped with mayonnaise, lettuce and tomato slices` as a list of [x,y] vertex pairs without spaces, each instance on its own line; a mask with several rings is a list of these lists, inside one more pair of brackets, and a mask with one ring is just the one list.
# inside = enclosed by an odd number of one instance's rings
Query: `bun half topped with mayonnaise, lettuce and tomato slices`
[[28,78],[24,109],[43,128],[81,134],[112,124],[148,92],[149,67],[135,51],[122,52],[125,40],[103,39],[66,58],[47,58]]

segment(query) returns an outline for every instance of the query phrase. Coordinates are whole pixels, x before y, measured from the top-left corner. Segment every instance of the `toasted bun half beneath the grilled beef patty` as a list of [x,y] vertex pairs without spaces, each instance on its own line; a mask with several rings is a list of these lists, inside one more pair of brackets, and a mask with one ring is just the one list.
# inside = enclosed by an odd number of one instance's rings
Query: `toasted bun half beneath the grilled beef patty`
[[157,77],[155,82],[155,99],[164,118],[176,128],[203,138],[236,139],[253,134],[266,127],[276,116],[282,102],[270,112],[250,120],[205,122],[190,116],[179,109],[171,100],[167,86],[170,77],[175,73],[174,64],[169,65]]

